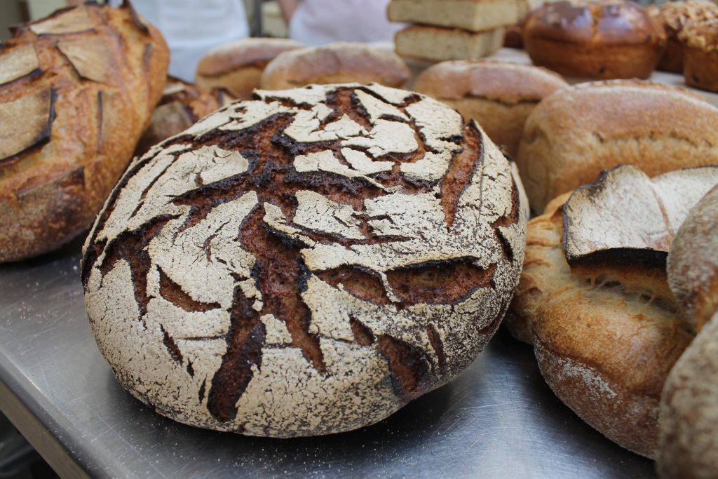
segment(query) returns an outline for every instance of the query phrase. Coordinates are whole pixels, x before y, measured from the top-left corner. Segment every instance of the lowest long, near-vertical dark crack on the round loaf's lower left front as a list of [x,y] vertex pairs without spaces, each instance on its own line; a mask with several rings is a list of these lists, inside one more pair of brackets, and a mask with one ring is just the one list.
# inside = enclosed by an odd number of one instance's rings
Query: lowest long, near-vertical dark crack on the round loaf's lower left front
[[244,296],[241,287],[235,287],[227,352],[212,378],[207,398],[207,409],[218,421],[231,421],[237,416],[237,401],[254,375],[252,366],[261,365],[265,336],[264,324],[252,309],[251,301]]

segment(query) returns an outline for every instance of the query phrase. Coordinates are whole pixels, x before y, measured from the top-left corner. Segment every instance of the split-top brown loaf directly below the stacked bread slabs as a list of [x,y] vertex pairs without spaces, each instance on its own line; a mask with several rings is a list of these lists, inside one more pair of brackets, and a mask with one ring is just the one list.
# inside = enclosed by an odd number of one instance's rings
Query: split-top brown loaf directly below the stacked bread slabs
[[414,90],[475,119],[495,144],[516,156],[523,124],[539,101],[569,84],[545,68],[491,60],[441,62],[416,78]]

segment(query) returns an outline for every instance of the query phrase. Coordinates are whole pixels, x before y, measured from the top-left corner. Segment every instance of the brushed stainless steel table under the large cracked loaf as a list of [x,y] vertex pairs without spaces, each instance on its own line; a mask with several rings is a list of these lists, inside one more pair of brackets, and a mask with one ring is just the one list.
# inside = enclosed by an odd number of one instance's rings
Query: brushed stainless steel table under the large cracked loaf
[[0,266],[0,409],[66,477],[651,477],[556,399],[503,332],[456,381],[356,432],[270,440],[194,429],[127,394],[95,347],[80,243]]

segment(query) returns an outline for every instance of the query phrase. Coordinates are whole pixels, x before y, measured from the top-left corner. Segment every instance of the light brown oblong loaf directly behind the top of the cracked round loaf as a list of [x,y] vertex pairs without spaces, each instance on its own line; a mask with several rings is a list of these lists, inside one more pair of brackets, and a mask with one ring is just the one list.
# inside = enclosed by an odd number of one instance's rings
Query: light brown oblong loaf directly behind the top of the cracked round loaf
[[259,83],[265,90],[348,82],[403,88],[409,76],[409,67],[394,52],[360,43],[332,43],[281,53],[266,66]]

